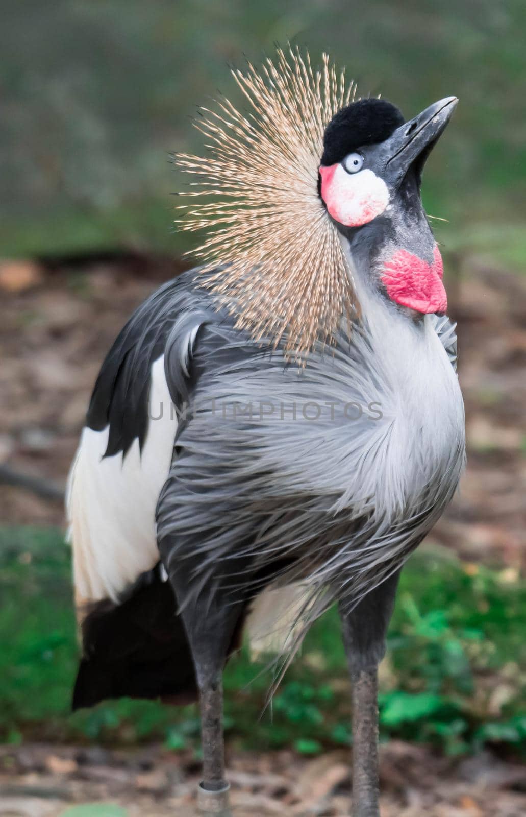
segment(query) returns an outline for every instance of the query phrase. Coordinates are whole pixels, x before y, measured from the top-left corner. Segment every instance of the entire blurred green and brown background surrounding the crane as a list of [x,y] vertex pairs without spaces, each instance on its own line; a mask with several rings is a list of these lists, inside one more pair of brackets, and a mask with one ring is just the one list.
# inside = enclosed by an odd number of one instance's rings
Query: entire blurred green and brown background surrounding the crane
[[[526,813],[526,4],[3,0],[0,15],[0,815],[192,813],[195,708],[123,700],[69,714],[78,647],[61,495],[105,351],[189,263],[169,152],[200,150],[196,105],[239,101],[229,64],[287,41],[314,63],[329,51],[359,94],[407,118],[460,97],[423,199],[458,321],[469,458],[390,627],[383,813]],[[345,814],[334,614],[261,714],[264,668],[243,652],[227,672],[238,814]]]

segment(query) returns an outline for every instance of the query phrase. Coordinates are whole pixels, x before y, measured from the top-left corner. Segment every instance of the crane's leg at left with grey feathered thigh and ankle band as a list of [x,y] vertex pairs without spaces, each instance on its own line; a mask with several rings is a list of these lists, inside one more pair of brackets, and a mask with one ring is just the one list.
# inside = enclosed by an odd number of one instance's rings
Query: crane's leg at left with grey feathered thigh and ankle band
[[[204,502],[210,481],[205,480],[206,465],[194,472],[193,461],[185,465],[185,457],[183,446],[177,458],[181,475],[176,490],[166,490],[158,502],[158,547],[185,625],[199,692],[203,780],[198,810],[207,817],[231,817],[222,676],[243,632],[253,557],[244,539],[233,535],[228,543],[224,541],[228,521],[220,520],[215,501]],[[212,458],[210,474],[221,484],[214,468]],[[204,487],[199,480],[205,480]],[[196,502],[198,497],[201,502]]]

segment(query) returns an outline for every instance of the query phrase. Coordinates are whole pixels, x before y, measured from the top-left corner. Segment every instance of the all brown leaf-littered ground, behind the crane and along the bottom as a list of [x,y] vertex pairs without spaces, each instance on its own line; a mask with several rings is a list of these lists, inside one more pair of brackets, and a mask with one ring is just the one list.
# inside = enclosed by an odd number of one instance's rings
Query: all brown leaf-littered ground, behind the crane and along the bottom
[[[65,483],[101,359],[133,308],[180,269],[163,258],[0,263],[0,468]],[[434,538],[469,561],[526,566],[526,281],[471,260],[449,285],[459,323],[468,467]],[[63,523],[61,503],[0,486],[0,520]],[[349,814],[349,758],[230,755],[236,817]],[[0,815],[56,817],[115,802],[130,817],[194,814],[198,764],[161,748],[0,749]],[[526,815],[526,769],[483,753],[453,762],[426,748],[382,749],[383,817]]]

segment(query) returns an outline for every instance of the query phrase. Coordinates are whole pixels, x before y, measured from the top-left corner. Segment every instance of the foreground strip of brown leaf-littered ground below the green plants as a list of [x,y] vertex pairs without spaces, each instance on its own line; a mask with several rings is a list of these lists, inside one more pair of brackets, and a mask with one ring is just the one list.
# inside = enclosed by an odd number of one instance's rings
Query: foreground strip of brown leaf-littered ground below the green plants
[[[349,760],[330,752],[229,757],[236,817],[349,815]],[[0,815],[59,817],[76,803],[118,803],[129,817],[194,817],[198,764],[158,747],[134,752],[33,745],[0,750]],[[481,754],[460,763],[392,741],[381,751],[382,817],[524,817],[526,768]]]

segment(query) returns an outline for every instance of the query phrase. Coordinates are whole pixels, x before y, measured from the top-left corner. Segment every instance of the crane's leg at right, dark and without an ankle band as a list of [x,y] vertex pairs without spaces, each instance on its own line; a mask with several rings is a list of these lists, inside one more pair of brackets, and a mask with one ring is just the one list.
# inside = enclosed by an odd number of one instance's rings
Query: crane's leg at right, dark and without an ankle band
[[352,682],[353,817],[379,817],[378,664],[386,651],[399,574],[375,587],[350,609],[340,604]]

